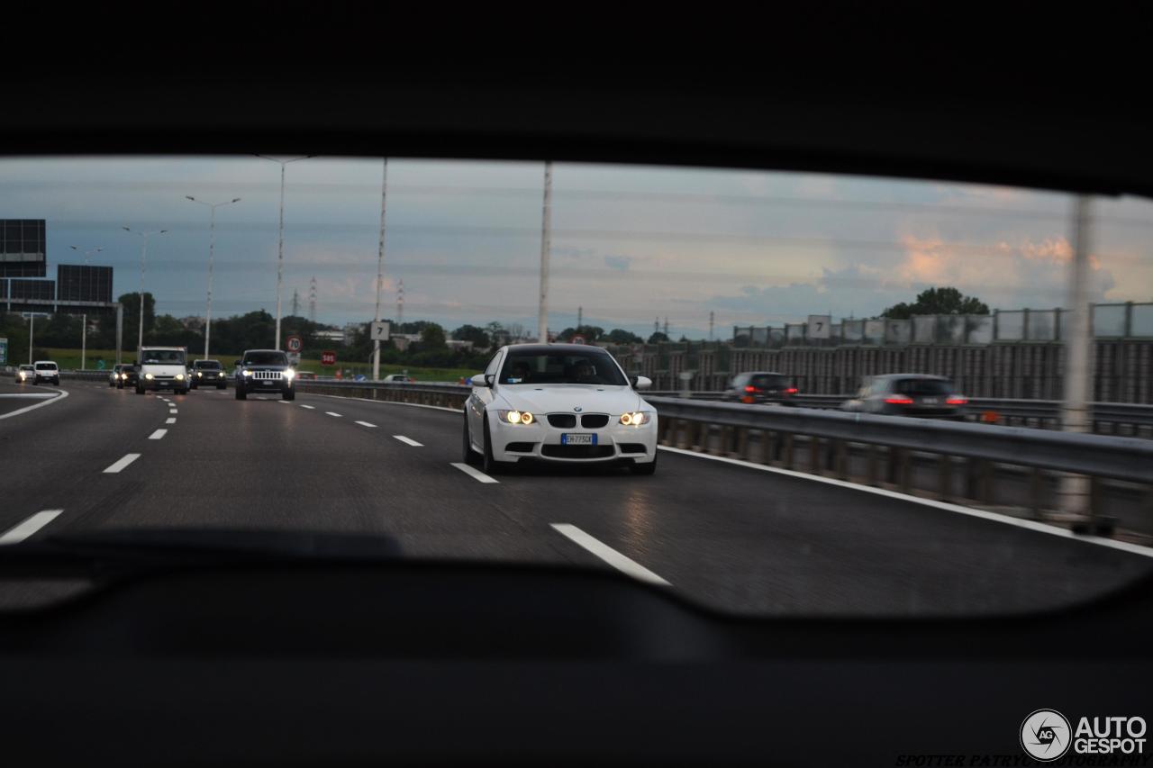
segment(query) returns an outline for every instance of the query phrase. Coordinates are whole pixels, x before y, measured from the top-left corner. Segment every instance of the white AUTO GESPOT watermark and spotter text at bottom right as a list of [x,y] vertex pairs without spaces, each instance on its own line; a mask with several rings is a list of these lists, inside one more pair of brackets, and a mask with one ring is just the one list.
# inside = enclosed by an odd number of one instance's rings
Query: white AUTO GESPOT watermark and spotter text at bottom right
[[1079,717],[1076,725],[1056,709],[1037,709],[1020,723],[1018,754],[902,754],[909,768],[1008,768],[1010,766],[1151,766],[1144,717]]

